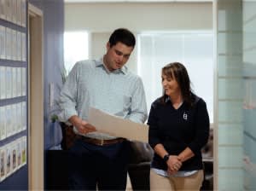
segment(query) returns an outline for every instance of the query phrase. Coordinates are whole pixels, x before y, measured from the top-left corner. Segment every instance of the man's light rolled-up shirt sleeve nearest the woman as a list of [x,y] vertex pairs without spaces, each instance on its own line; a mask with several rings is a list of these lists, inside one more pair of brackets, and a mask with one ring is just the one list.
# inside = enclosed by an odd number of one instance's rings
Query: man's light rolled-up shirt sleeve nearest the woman
[[144,123],[148,118],[146,96],[143,81],[137,78],[135,89],[131,96],[131,113],[128,119],[137,123]]

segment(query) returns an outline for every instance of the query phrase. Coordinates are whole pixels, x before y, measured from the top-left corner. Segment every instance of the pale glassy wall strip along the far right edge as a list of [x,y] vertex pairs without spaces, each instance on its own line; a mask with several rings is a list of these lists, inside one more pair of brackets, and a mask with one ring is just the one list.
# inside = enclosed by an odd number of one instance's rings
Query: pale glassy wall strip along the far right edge
[[242,1],[244,189],[256,190],[256,2]]

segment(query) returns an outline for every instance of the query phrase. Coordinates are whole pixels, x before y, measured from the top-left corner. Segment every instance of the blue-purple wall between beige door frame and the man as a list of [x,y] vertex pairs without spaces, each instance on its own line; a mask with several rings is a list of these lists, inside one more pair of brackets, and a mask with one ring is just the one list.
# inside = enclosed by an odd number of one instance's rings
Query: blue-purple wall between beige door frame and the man
[[50,149],[61,142],[61,127],[50,122],[55,106],[50,106],[49,85],[54,84],[54,99],[58,96],[62,80],[64,2],[63,0],[30,0],[44,13],[44,148]]

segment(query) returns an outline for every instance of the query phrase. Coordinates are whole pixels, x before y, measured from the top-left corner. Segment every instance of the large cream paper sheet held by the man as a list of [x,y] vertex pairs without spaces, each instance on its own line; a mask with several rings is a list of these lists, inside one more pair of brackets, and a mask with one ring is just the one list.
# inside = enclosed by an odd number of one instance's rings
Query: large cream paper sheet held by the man
[[148,125],[122,119],[99,109],[90,107],[88,122],[96,130],[110,136],[124,137],[131,141],[148,142]]

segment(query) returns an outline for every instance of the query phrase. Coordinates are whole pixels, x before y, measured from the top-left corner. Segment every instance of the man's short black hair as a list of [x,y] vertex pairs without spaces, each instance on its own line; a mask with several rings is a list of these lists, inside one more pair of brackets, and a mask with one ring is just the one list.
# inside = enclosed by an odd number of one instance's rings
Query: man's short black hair
[[125,28],[114,30],[108,40],[110,47],[116,43],[125,43],[126,46],[135,47],[136,39],[132,32]]

